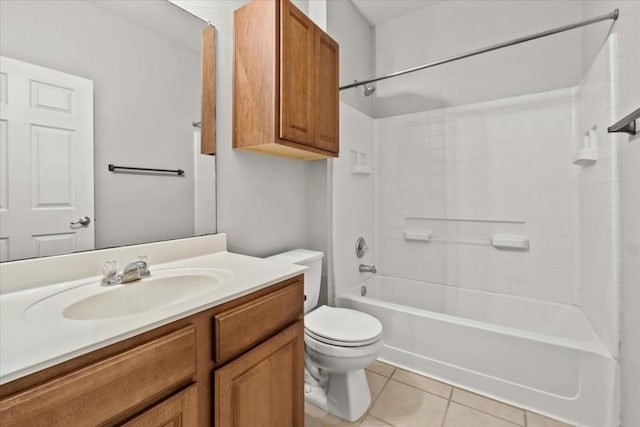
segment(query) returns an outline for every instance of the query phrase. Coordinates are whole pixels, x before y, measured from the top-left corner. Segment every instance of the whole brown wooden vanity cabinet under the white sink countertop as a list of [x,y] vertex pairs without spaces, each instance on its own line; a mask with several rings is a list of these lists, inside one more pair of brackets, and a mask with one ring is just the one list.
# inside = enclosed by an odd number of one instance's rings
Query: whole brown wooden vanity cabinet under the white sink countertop
[[302,426],[303,299],[297,276],[0,385],[0,425]]

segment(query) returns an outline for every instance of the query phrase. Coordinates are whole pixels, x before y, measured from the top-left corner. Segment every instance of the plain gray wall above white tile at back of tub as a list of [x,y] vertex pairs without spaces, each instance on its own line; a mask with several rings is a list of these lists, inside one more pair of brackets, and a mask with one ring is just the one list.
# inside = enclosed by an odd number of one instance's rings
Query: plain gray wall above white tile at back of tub
[[[581,19],[581,2],[571,0],[437,2],[376,25],[376,73],[416,67]],[[381,81],[374,115],[545,92],[575,86],[581,77],[581,33],[567,32]]]

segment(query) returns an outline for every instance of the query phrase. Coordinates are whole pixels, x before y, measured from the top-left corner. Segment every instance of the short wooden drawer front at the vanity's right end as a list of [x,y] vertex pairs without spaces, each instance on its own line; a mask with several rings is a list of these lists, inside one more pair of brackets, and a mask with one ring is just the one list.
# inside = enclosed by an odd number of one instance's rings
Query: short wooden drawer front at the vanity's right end
[[302,278],[289,286],[214,315],[214,361],[222,362],[304,315]]

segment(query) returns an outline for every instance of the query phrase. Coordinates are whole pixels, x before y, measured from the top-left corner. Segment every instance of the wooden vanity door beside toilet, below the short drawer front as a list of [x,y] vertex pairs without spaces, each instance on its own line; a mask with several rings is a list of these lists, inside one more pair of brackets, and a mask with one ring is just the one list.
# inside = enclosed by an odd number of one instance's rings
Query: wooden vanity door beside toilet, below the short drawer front
[[216,427],[304,425],[304,337],[300,320],[215,371]]

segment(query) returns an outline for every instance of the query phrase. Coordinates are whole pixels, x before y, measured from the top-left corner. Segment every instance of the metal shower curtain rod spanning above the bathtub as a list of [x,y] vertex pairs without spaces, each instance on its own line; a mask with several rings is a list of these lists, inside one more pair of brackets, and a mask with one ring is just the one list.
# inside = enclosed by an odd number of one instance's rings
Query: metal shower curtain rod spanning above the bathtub
[[509,46],[513,46],[513,45],[516,45],[516,44],[528,42],[529,40],[535,40],[535,39],[539,39],[539,38],[542,38],[542,37],[547,37],[547,36],[550,36],[550,35],[553,35],[553,34],[562,33],[564,31],[573,30],[574,28],[580,28],[580,27],[584,27],[585,25],[595,24],[596,22],[606,21],[606,20],[609,20],[609,19],[612,19],[612,20],[615,21],[615,20],[618,19],[619,13],[620,13],[619,10],[615,9],[614,11],[609,12],[609,13],[607,13],[605,15],[596,16],[595,18],[587,19],[586,21],[576,22],[575,24],[563,25],[562,27],[557,27],[557,28],[553,28],[551,30],[542,31],[542,32],[531,34],[531,35],[524,36],[524,37],[519,37],[517,39],[509,40],[509,41],[506,41],[506,42],[503,42],[503,43],[498,43],[498,44],[495,44],[493,46],[484,47],[482,49],[472,50],[470,52],[466,52],[466,53],[463,53],[463,54],[460,54],[460,55],[456,55],[456,56],[451,56],[449,58],[441,59],[439,61],[430,62],[428,64],[419,65],[417,67],[408,68],[408,69],[402,70],[402,71],[396,71],[395,73],[387,74],[385,76],[375,77],[373,79],[363,80],[361,82],[355,82],[355,83],[351,83],[351,84],[348,84],[348,85],[340,86],[340,90],[351,89],[353,87],[358,87],[358,86],[366,85],[366,84],[369,84],[369,83],[379,82],[380,80],[386,80],[386,79],[390,79],[392,77],[402,76],[403,74],[413,73],[414,71],[424,70],[426,68],[435,67],[436,65],[442,65],[442,64],[449,63],[449,62],[457,61],[459,59],[464,59],[464,58],[469,58],[471,56],[480,55],[481,53],[486,53],[486,52],[491,52],[493,50],[502,49],[503,47],[509,47]]

